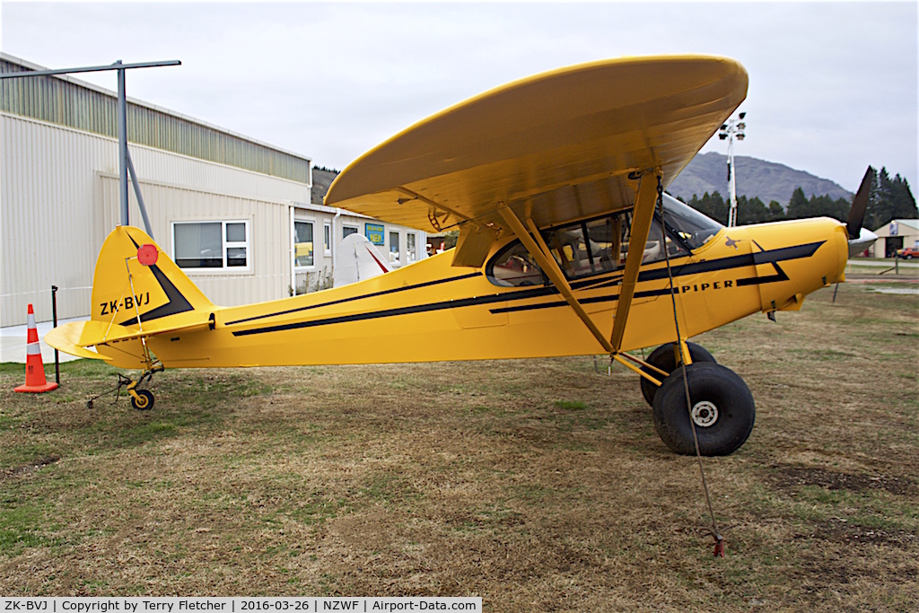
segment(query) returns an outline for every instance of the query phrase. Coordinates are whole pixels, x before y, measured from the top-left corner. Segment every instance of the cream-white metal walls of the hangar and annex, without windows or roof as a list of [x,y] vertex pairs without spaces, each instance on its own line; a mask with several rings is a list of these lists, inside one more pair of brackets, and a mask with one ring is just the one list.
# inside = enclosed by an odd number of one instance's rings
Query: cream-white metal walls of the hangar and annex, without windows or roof
[[[130,153],[153,239],[170,256],[175,221],[249,221],[249,270],[187,271],[215,304],[277,300],[306,273],[331,273],[323,222],[332,225],[333,254],[344,225],[366,234],[370,222],[384,227],[382,255],[390,254],[393,230],[400,233],[400,264],[408,233],[416,236],[417,259],[426,256],[424,232],[300,204],[310,201],[309,185],[136,144]],[[60,319],[89,314],[96,255],[120,223],[118,172],[116,140],[0,113],[0,327],[24,324],[29,302],[38,321],[50,320],[51,285],[59,288]],[[129,194],[131,225],[142,228],[132,187]],[[314,223],[312,268],[293,267],[292,218]]]

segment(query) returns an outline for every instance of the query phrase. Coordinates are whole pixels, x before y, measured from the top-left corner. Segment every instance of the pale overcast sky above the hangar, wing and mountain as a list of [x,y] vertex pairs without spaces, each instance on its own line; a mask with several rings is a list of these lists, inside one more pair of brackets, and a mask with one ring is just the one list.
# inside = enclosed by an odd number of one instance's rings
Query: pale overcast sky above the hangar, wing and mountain
[[[854,191],[917,170],[916,2],[0,4],[0,49],[131,71],[128,96],[344,168],[419,119],[529,74],[621,55],[743,62],[734,152]],[[116,88],[115,74],[77,78]],[[718,138],[703,152],[726,153]]]

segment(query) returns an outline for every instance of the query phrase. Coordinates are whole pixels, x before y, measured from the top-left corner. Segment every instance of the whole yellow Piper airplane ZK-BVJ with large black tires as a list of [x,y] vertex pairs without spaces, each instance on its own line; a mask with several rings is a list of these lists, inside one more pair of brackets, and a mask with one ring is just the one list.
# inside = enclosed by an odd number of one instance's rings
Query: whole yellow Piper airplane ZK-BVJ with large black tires
[[[459,228],[455,249],[346,287],[220,307],[149,236],[118,227],[96,263],[91,321],[45,340],[143,369],[128,389],[137,409],[153,406],[139,385],[164,368],[607,354],[641,375],[668,447],[695,453],[698,439],[704,455],[732,453],[754,426],[753,395],[686,338],[798,310],[844,280],[868,197],[866,181],[848,228],[725,228],[665,194],[746,88],[740,63],[696,55],[498,87],[364,154],[325,197],[429,232]],[[647,359],[627,353],[657,345]]]

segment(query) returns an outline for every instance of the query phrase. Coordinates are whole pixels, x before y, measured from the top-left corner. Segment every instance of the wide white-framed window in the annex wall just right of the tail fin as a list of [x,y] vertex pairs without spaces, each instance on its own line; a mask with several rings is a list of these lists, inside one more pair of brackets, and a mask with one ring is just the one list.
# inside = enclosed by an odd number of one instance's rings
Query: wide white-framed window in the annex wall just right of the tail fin
[[173,259],[180,268],[249,268],[248,221],[174,221]]

